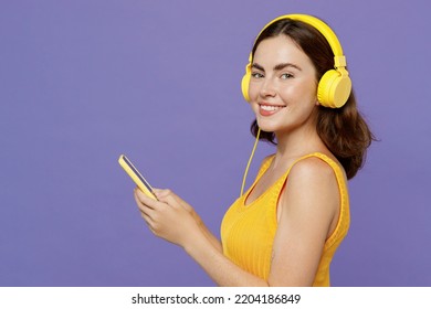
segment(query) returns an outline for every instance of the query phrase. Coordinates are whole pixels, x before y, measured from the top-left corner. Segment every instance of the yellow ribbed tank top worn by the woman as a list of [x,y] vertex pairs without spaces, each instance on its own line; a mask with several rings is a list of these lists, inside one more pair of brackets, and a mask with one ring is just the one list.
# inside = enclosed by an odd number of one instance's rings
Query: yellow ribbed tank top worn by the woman
[[221,241],[224,255],[244,270],[267,280],[271,268],[272,246],[277,228],[276,209],[283,185],[292,167],[299,160],[316,157],[328,163],[337,179],[340,193],[338,223],[326,239],[313,286],[329,286],[329,265],[350,224],[347,183],[341,168],[320,152],[311,153],[296,160],[290,169],[252,204],[245,206],[250,192],[270,167],[274,157],[266,160],[254,183],[225,213],[221,224]]

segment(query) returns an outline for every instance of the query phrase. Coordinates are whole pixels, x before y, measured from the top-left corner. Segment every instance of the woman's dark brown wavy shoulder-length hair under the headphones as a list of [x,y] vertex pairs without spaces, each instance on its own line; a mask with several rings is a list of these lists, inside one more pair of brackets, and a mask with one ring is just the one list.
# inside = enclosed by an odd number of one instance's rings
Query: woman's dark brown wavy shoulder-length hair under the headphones
[[[282,19],[267,26],[256,39],[252,57],[259,44],[266,39],[286,35],[311,58],[316,68],[316,79],[334,68],[334,53],[325,36],[314,26],[292,19]],[[317,134],[329,151],[338,159],[346,170],[347,179],[356,175],[364,166],[367,148],[375,140],[364,117],[357,108],[354,90],[341,108],[318,107]],[[251,126],[255,137],[259,127],[256,120]],[[276,145],[273,132],[261,131],[261,140]]]

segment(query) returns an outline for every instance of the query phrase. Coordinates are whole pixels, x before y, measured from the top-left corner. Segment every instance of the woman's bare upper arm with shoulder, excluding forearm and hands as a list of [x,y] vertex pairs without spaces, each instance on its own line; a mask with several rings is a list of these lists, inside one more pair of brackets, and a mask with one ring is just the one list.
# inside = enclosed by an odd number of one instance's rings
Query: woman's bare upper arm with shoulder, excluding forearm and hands
[[329,166],[317,158],[297,162],[278,202],[269,283],[312,286],[323,247],[337,220],[339,193]]

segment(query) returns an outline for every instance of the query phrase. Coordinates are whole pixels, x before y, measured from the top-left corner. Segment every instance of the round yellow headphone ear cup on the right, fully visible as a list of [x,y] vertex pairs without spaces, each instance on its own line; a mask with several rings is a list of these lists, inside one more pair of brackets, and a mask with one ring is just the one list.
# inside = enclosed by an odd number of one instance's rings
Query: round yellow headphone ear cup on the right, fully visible
[[325,107],[339,108],[346,104],[350,92],[350,77],[336,70],[329,70],[318,82],[317,99]]

